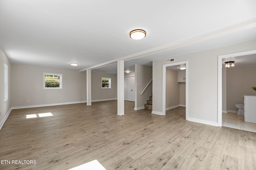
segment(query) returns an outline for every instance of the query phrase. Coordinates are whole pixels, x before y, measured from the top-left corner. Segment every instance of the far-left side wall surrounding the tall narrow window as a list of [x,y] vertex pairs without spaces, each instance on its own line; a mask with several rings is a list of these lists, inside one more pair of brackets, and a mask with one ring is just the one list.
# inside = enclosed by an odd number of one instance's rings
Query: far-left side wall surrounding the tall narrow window
[[[4,102],[4,64],[8,65],[8,100]],[[11,109],[11,68],[12,64],[0,47],[0,129]]]

